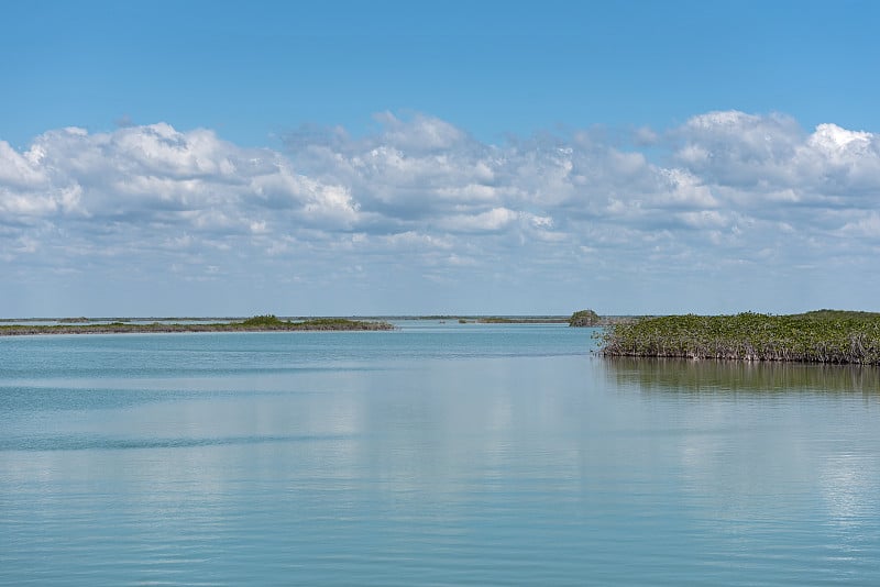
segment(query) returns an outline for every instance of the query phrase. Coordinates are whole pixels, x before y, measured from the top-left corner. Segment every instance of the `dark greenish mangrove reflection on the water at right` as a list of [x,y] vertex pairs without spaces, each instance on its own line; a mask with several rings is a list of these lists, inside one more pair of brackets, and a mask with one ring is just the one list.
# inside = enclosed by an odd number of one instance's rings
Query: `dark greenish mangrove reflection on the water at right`
[[880,368],[872,366],[641,357],[609,357],[604,363],[617,384],[642,390],[880,395]]

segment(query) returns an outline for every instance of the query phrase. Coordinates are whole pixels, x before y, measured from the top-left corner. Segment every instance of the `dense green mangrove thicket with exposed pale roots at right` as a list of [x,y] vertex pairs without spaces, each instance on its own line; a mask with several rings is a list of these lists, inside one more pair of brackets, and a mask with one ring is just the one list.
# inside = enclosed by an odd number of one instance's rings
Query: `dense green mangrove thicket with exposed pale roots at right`
[[606,356],[880,365],[880,313],[666,315],[597,334]]

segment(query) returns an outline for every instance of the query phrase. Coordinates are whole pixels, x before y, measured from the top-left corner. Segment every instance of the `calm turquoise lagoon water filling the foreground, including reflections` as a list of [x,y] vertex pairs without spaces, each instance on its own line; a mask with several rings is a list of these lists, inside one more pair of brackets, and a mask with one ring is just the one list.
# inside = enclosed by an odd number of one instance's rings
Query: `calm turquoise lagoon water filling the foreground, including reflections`
[[0,583],[880,585],[876,369],[400,325],[0,339]]

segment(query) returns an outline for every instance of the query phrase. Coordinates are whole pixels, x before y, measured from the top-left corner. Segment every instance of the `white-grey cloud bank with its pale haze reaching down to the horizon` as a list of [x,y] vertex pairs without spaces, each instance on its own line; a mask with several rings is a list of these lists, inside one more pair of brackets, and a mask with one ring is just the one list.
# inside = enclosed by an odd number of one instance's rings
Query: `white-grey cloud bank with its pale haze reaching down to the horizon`
[[0,141],[3,313],[872,303],[873,133],[725,111],[487,144],[427,115],[376,122],[276,149],[164,123]]

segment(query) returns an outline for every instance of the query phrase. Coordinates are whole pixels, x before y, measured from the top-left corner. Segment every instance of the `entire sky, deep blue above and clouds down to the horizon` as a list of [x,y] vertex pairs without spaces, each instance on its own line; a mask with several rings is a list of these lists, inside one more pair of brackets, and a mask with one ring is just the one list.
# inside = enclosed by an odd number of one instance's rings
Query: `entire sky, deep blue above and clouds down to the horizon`
[[880,3],[0,19],[0,317],[880,311]]

